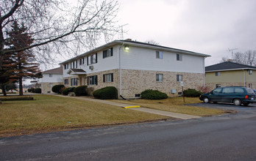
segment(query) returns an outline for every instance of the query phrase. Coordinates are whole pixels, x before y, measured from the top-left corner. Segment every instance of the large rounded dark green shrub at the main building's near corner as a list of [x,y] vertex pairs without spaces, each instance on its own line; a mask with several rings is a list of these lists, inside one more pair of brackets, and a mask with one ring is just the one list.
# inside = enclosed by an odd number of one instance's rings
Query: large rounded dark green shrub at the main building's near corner
[[118,99],[118,91],[114,86],[107,86],[93,91],[93,97],[101,100],[115,100]]

